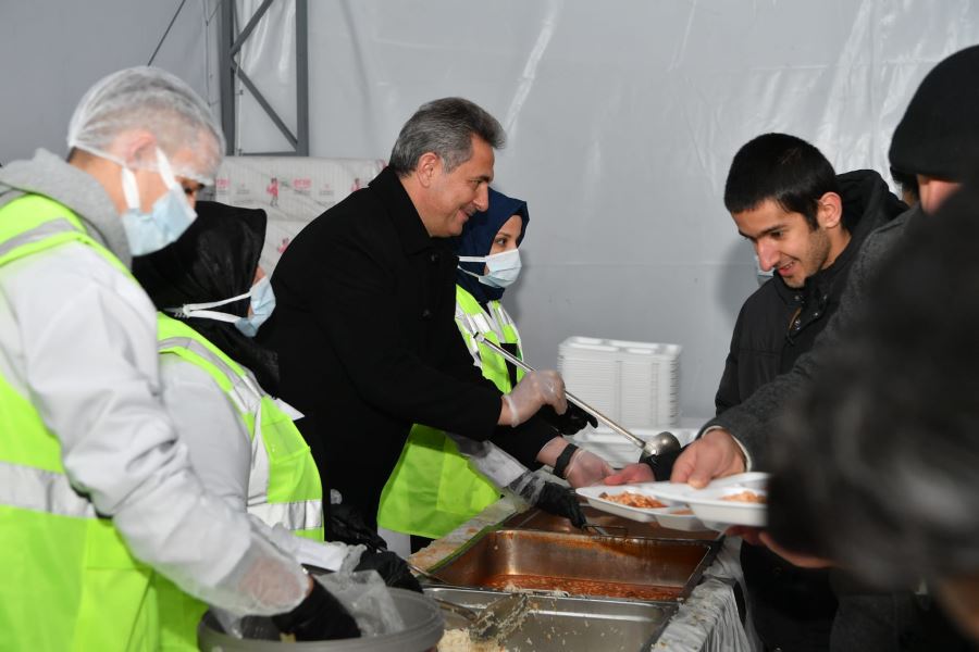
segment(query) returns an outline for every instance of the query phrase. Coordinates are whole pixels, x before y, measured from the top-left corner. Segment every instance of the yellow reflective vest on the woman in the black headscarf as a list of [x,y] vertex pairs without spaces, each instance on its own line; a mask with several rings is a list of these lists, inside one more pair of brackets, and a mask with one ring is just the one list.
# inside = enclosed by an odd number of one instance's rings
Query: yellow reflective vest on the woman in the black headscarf
[[270,526],[323,540],[319,471],[298,428],[244,367],[190,326],[158,314],[161,354],[179,355],[210,375],[241,416],[251,437],[248,512]]

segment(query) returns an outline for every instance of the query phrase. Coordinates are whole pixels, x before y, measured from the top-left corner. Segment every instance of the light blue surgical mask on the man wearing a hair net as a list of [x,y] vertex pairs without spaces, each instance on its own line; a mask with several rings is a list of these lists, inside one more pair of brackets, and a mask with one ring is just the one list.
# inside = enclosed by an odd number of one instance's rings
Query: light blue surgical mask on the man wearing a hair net
[[114,156],[111,160],[123,166],[122,187],[127,209],[122,214],[122,221],[133,255],[152,253],[175,242],[197,217],[197,213],[190,208],[184,188],[173,176],[166,155],[157,148],[157,172],[166,186],[166,192],[153,202],[149,213],[144,213],[139,208],[136,175],[125,162]]

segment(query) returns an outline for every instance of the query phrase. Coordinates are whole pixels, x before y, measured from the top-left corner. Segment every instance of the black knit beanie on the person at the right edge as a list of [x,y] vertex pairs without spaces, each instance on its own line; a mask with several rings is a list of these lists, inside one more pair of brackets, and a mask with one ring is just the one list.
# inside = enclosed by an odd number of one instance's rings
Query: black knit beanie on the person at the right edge
[[949,181],[979,167],[979,46],[928,73],[894,129],[889,156],[897,171]]

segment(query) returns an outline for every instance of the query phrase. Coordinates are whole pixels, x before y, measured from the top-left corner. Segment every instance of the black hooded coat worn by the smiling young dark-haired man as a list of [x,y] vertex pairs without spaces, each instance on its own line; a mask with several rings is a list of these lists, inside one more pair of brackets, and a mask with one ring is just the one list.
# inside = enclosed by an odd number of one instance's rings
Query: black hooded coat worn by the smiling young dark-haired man
[[[793,289],[778,275],[748,297],[738,315],[715,404],[722,414],[792,368],[813,348],[840,304],[851,264],[870,231],[906,206],[876,172],[837,177],[851,240],[832,265]],[[827,570],[798,568],[765,547],[743,544],[741,565],[755,629],[767,648],[826,650],[837,612]]]

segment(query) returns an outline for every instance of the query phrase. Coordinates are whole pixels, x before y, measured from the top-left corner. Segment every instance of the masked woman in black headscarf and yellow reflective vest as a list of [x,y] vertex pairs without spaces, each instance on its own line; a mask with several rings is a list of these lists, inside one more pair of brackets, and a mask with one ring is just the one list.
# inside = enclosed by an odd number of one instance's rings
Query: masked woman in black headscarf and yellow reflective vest
[[[162,311],[163,401],[209,491],[247,509],[298,561],[352,570],[363,547],[323,543],[319,472],[293,423],[301,414],[265,391],[278,383],[274,354],[253,339],[275,305],[259,266],[265,212],[208,201],[196,209],[176,242],[133,261]],[[163,623],[164,642],[196,649],[207,606],[176,592],[164,598],[173,614]]]

